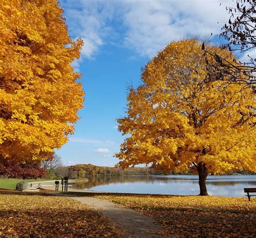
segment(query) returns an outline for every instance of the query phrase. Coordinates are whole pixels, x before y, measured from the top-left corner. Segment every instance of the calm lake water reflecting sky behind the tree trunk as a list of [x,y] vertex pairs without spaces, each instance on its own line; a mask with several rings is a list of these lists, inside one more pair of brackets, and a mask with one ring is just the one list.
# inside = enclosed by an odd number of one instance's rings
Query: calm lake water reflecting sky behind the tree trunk
[[[208,176],[208,194],[244,197],[244,187],[256,187],[255,175]],[[92,178],[74,188],[118,193],[199,194],[198,176],[113,176]]]

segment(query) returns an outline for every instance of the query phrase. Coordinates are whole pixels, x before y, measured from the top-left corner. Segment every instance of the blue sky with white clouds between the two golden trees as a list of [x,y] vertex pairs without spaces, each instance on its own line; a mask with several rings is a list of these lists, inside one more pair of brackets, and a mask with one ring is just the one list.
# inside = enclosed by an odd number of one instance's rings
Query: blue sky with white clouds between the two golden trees
[[73,66],[86,93],[75,134],[56,151],[65,165],[118,162],[124,138],[115,120],[125,115],[127,86],[139,84],[140,68],[172,40],[219,33],[232,4],[221,2],[60,0],[71,38],[84,40]]

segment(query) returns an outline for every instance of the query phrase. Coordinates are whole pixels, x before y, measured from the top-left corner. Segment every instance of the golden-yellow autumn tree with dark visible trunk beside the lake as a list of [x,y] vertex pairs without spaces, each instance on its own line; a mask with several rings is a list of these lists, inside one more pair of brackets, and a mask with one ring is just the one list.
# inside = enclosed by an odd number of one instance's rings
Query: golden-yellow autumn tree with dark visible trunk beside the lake
[[[212,53],[232,60],[226,50]],[[127,96],[127,115],[117,120],[127,138],[116,157],[123,168],[150,164],[163,171],[199,174],[200,195],[207,195],[209,173],[256,171],[253,118],[237,124],[255,108],[250,88],[207,82],[201,43],[171,43],[143,69],[142,85]],[[207,63],[214,62],[208,57]]]

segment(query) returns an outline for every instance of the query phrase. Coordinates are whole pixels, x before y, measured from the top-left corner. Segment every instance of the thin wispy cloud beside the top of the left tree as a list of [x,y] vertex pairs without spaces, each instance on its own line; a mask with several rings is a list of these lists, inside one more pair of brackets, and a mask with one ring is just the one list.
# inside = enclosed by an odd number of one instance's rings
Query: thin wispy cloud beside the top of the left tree
[[113,8],[98,0],[62,0],[65,9],[64,16],[68,24],[69,33],[73,39],[82,38],[84,46],[82,58],[93,58],[99,47],[104,44],[104,37],[111,31],[107,20],[111,18]]

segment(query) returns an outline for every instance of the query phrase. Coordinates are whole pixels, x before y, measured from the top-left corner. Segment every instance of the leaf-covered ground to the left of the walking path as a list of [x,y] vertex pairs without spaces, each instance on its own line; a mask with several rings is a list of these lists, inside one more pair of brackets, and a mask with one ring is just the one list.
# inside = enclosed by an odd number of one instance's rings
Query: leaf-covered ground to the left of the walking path
[[0,195],[0,237],[119,237],[101,214],[79,202],[42,195]]

